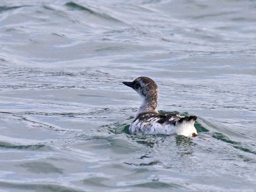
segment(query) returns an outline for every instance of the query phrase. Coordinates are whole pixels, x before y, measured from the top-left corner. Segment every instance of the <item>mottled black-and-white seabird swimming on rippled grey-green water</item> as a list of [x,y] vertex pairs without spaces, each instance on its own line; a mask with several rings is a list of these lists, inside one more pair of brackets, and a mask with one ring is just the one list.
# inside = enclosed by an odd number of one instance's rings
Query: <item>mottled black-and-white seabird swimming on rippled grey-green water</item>
[[178,134],[197,136],[195,129],[196,116],[180,116],[172,113],[159,114],[157,111],[158,90],[155,81],[149,77],[138,77],[132,82],[123,82],[134,89],[141,97],[141,106],[129,127],[134,134]]

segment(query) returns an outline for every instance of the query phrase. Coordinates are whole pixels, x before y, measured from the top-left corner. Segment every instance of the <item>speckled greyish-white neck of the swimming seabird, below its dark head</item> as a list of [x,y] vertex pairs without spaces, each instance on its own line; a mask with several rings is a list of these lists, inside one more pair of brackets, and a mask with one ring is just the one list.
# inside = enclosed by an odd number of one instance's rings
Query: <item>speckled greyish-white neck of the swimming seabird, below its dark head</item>
[[140,108],[136,113],[136,117],[141,113],[158,113],[157,111],[157,97],[144,97],[141,100]]

